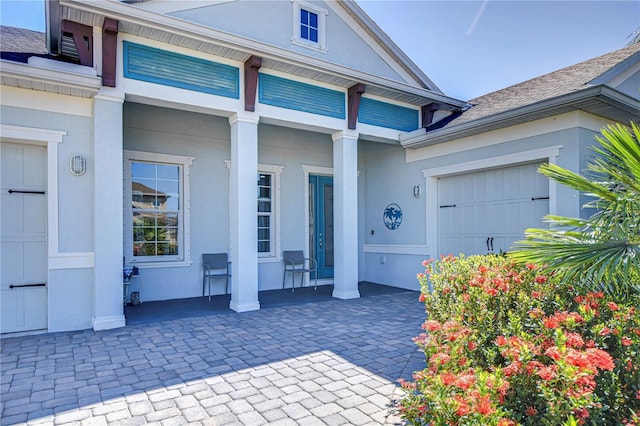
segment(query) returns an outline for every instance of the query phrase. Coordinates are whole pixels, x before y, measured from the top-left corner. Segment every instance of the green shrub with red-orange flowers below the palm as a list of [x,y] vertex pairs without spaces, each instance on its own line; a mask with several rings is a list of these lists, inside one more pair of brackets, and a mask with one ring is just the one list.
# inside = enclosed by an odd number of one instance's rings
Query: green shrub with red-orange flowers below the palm
[[581,293],[501,256],[425,261],[427,367],[410,424],[640,424],[638,300]]

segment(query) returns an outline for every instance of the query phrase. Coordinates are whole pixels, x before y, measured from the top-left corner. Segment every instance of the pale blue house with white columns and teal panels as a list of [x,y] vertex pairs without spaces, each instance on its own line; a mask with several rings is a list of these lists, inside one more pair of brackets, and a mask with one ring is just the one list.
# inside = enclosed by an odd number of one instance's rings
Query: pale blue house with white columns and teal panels
[[124,326],[123,259],[168,300],[227,252],[237,312],[281,288],[284,250],[337,298],[417,289],[425,258],[579,214],[535,167],[579,170],[640,106],[638,47],[465,102],[352,1],[46,6],[46,49],[3,28],[2,334]]

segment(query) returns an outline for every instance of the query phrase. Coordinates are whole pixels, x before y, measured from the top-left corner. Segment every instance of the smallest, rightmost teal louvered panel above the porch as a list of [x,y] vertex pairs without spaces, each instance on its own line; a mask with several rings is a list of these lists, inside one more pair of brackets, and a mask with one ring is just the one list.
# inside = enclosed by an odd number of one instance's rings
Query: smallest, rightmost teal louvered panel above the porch
[[418,128],[418,110],[370,98],[360,99],[360,123],[409,132]]

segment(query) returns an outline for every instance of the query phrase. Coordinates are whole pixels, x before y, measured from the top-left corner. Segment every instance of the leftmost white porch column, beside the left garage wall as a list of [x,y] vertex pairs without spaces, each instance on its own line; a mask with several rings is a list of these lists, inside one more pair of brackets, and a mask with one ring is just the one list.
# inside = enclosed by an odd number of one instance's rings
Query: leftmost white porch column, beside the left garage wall
[[96,331],[125,325],[122,305],[122,104],[121,98],[102,95],[96,96],[93,102],[93,329]]

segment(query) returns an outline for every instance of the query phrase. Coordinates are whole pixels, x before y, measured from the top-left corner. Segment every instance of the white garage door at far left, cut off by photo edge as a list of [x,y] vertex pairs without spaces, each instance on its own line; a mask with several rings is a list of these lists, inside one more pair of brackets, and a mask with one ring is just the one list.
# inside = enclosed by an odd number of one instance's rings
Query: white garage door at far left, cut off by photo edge
[[0,144],[0,332],[47,328],[47,150]]

